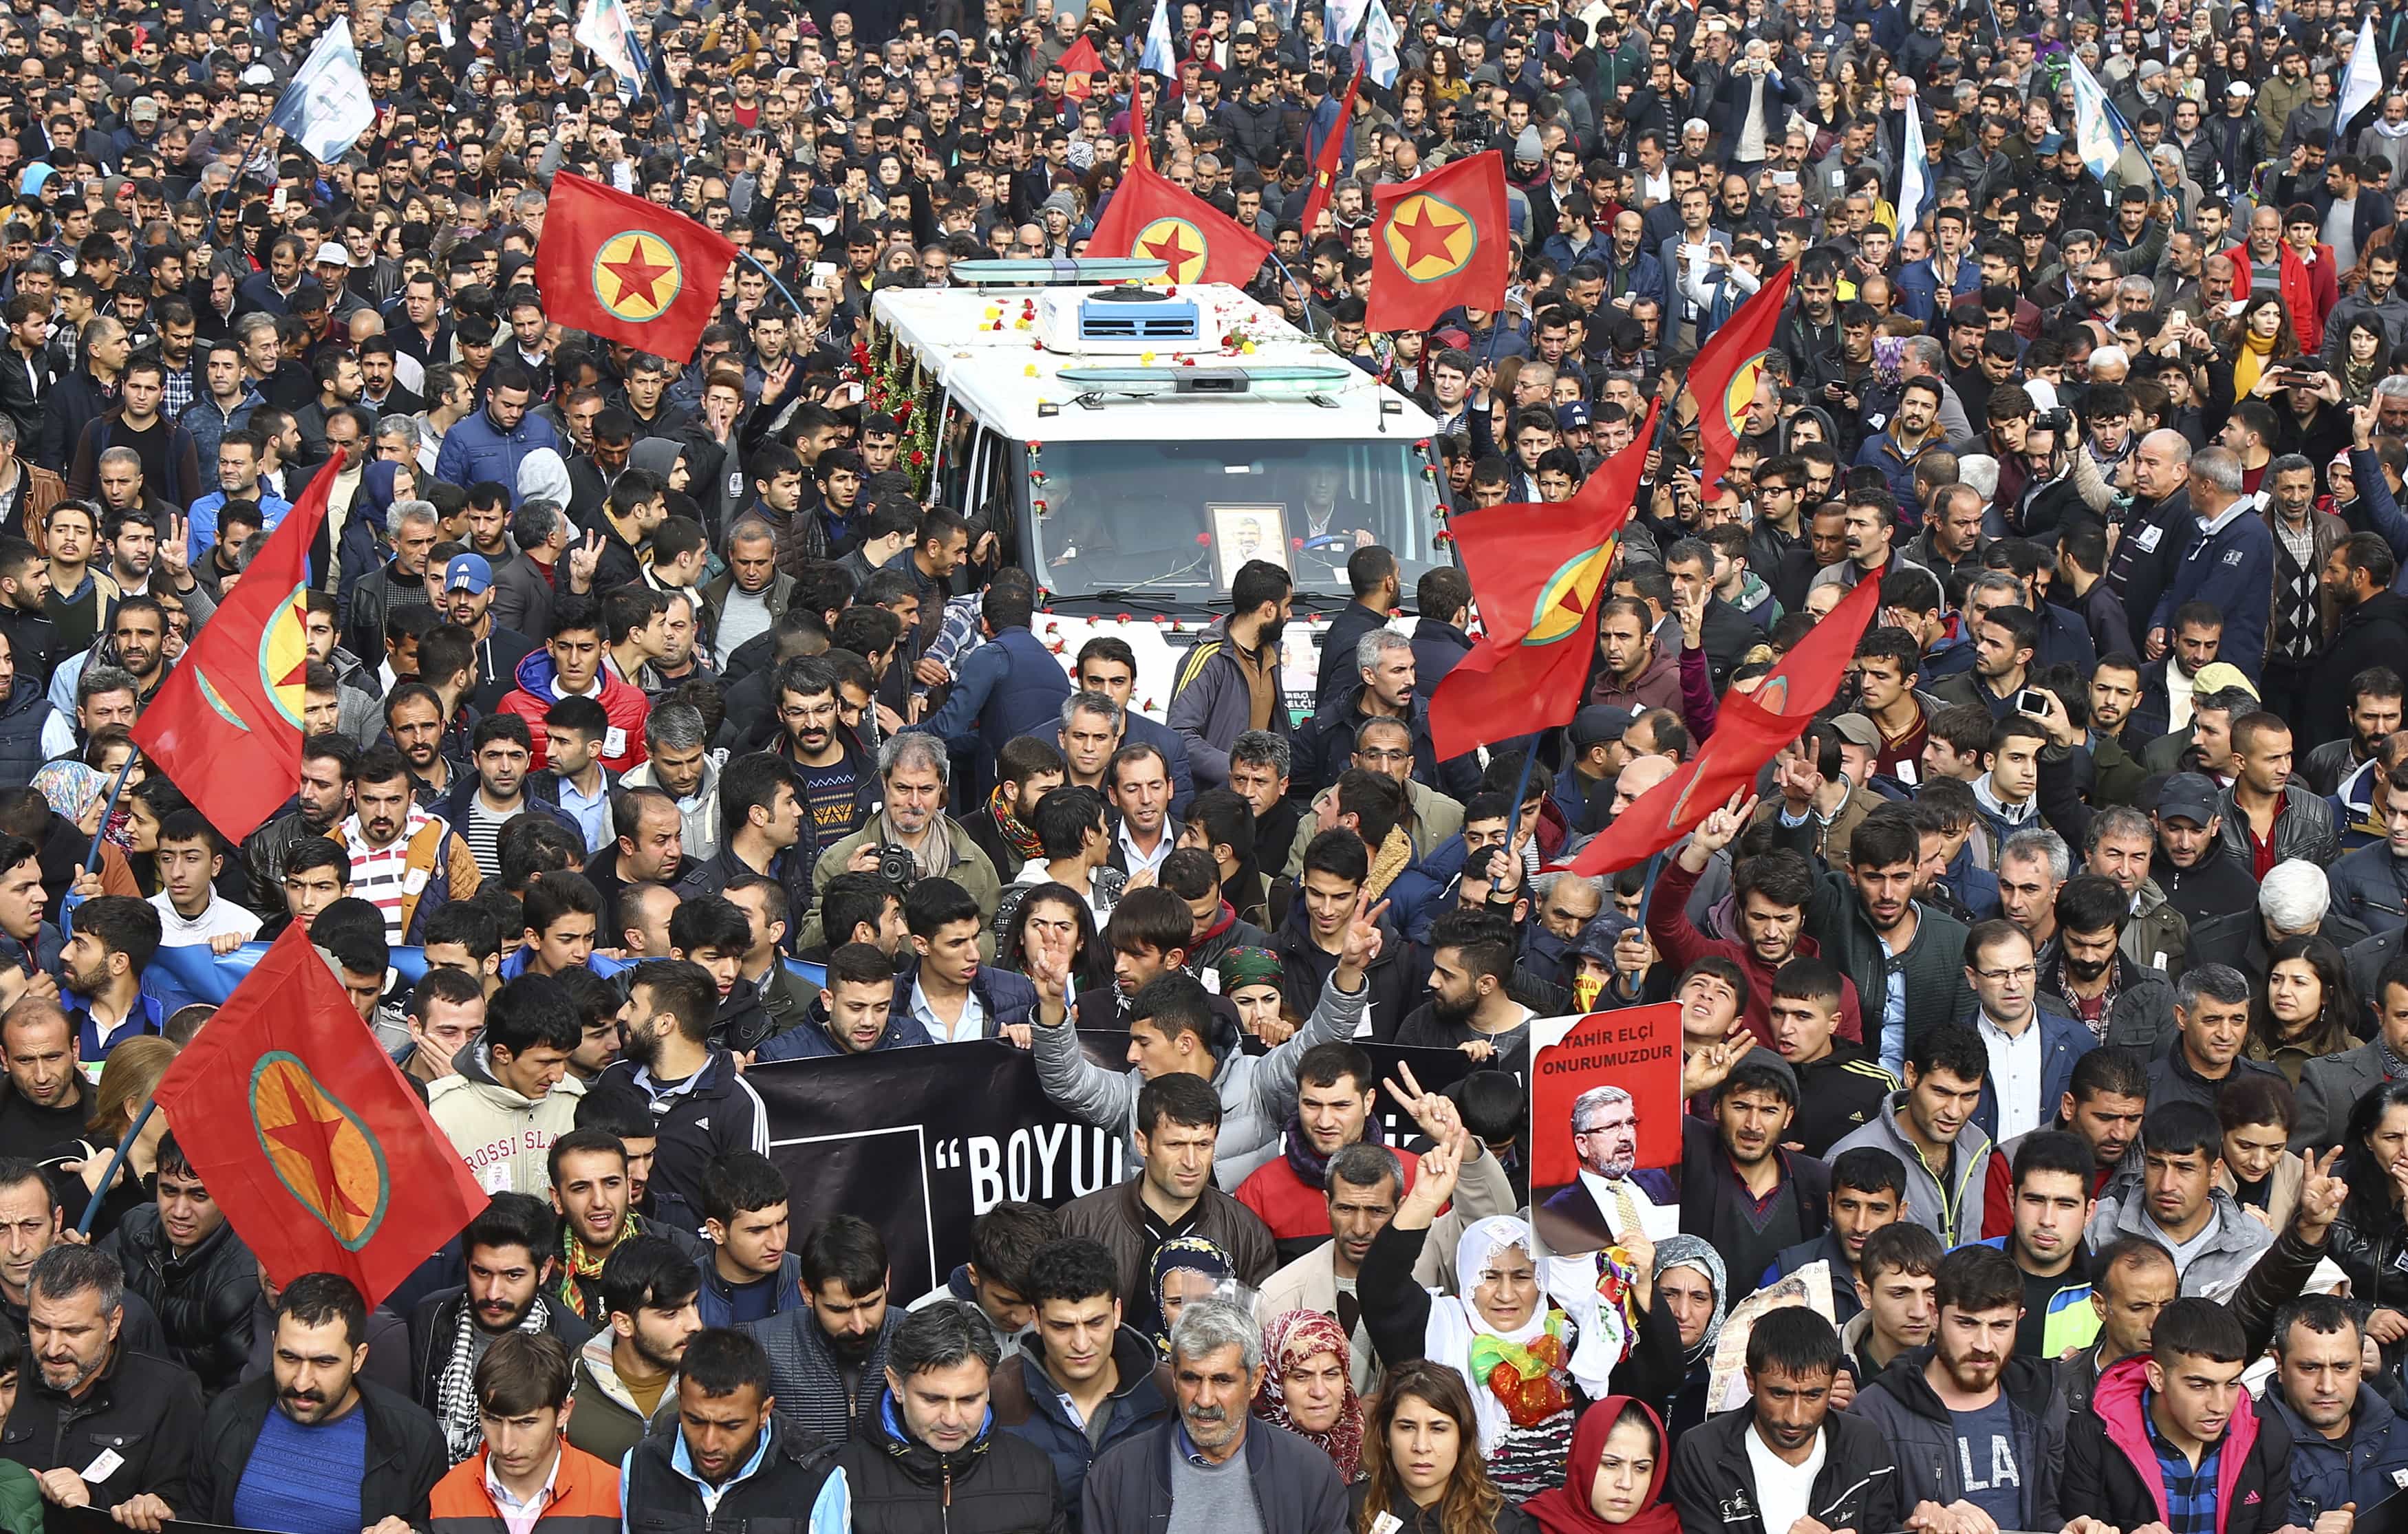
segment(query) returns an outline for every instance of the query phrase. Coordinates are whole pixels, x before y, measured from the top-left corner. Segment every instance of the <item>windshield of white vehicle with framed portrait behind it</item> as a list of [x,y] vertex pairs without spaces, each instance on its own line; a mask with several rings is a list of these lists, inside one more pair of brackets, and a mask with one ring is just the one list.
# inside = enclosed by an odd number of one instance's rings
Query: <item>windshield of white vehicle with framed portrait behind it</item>
[[1346,556],[1382,544],[1411,590],[1433,559],[1435,494],[1406,438],[1312,443],[1045,443],[1028,568],[1047,592],[1226,597],[1269,559],[1300,595],[1344,600]]

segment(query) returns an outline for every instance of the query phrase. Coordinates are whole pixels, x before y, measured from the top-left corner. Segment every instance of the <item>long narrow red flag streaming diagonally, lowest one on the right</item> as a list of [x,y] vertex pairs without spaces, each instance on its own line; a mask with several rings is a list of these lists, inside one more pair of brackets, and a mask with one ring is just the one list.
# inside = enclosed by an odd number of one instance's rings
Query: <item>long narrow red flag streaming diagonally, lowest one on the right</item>
[[[1714,734],[1698,749],[1698,759],[1633,800],[1630,809],[1580,848],[1570,869],[1594,877],[1647,862],[1695,831],[1731,795],[1753,792],[1765,763],[1804,734],[1813,715],[1840,691],[1840,679],[1857,657],[1857,641],[1876,612],[1881,612],[1881,576],[1864,576],[1828,619],[1782,655],[1763,686],[1753,694],[1724,694]],[[1430,708],[1435,722],[1435,698]]]

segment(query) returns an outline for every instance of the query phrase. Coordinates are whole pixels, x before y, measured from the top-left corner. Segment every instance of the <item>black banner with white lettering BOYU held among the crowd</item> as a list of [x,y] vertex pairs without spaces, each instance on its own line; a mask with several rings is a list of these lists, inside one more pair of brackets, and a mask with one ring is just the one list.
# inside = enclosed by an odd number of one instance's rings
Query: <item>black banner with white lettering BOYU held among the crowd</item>
[[[1459,1050],[1356,1040],[1385,1081],[1399,1064],[1423,1091],[1471,1072]],[[1079,1033],[1105,1069],[1127,1069],[1127,1033]],[[937,1288],[970,1259],[970,1221],[1004,1199],[1047,1206],[1137,1175],[1122,1127],[1074,1122],[1038,1086],[1035,1062],[1004,1040],[756,1064],[744,1079],[768,1110],[768,1156],[795,1190],[795,1240],[831,1214],[886,1235],[891,1293]],[[1389,1144],[1416,1134],[1382,1091]]]

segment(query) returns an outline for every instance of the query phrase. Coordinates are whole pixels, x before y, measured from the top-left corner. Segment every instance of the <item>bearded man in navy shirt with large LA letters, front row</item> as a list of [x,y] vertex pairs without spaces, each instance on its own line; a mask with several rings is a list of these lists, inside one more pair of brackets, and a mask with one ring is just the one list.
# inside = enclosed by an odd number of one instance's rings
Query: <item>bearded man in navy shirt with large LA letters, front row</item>
[[1907,1524],[2061,1527],[2064,1418],[2049,1411],[2049,1363],[2015,1346],[2023,1274],[1996,1247],[1958,1247],[1941,1257],[1934,1298],[1931,1344],[1893,1358],[1849,1409],[1890,1442]]

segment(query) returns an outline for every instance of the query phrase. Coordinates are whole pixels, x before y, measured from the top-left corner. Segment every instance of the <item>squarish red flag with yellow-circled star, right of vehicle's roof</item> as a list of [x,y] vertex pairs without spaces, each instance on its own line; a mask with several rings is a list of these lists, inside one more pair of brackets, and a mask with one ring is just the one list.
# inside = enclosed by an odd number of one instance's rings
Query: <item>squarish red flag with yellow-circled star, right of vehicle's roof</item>
[[1428,330],[1505,303],[1505,157],[1495,149],[1373,190],[1368,330]]

